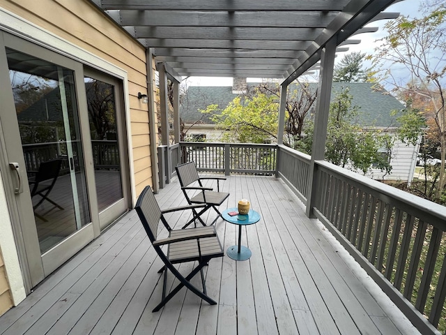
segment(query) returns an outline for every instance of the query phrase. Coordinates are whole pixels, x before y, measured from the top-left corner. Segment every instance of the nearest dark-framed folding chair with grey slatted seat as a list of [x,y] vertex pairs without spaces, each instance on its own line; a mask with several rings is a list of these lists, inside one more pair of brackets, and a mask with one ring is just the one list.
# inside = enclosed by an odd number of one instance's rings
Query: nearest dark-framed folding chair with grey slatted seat
[[[164,262],[164,266],[159,271],[164,271],[162,300],[160,304],[153,309],[153,312],[159,311],[167,301],[174,297],[174,295],[183,288],[183,286],[201,297],[201,299],[208,301],[209,304],[217,304],[217,302],[206,294],[206,284],[204,282],[203,274],[203,267],[208,265],[209,260],[212,258],[223,257],[224,255],[222,245],[220,244],[217,232],[215,231],[215,226],[173,230],[169,226],[169,223],[167,223],[166,218],[164,218],[165,213],[183,211],[185,209],[196,209],[198,207],[203,207],[203,205],[176,207],[162,211],[157,204],[155,195],[153,195],[150,186],[146,186],[141,195],[139,195],[135,209],[141,219],[144,229],[146,230],[148,238],[152,242],[153,248],[155,248],[155,251],[160,256],[162,262]],[[162,239],[157,238],[160,220],[169,232],[169,236]],[[164,253],[162,246],[167,246],[167,253]],[[198,265],[187,276],[180,274],[174,266],[174,264],[194,261],[197,261]],[[176,288],[169,292],[169,295],[166,296],[168,269],[174,276],[176,276],[176,278],[178,278],[180,283]],[[190,280],[198,272],[201,274],[202,291],[190,283]]]

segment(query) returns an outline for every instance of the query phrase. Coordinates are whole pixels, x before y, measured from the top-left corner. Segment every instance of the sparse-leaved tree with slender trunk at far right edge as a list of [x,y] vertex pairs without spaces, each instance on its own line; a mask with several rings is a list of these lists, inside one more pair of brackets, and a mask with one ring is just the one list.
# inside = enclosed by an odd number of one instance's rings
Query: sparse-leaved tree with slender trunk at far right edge
[[[436,133],[442,161],[436,191],[439,199],[446,181],[446,8],[444,2],[431,1],[428,5],[433,7],[426,8],[434,9],[424,17],[400,16],[387,22],[387,36],[379,40],[380,45],[370,58],[380,70],[382,80],[395,91],[429,100],[424,114],[435,132],[428,133]],[[402,68],[410,75],[401,78],[398,74]]]

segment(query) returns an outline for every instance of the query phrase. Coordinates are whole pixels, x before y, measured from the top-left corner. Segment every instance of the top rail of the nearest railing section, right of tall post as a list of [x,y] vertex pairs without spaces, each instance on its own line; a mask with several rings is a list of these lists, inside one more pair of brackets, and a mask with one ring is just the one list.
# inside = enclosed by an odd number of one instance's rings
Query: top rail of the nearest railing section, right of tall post
[[438,228],[443,231],[446,230],[445,206],[420,198],[417,195],[410,194],[406,191],[401,191],[398,188],[383,184],[380,181],[370,179],[326,161],[316,161],[315,163],[321,170],[327,170],[330,173],[344,177],[345,180],[351,184],[360,184],[361,186],[368,188],[370,191],[379,194],[381,199],[390,204],[398,202],[399,205],[407,209],[408,212],[418,212],[420,215],[417,216],[421,217],[426,222],[438,226]]

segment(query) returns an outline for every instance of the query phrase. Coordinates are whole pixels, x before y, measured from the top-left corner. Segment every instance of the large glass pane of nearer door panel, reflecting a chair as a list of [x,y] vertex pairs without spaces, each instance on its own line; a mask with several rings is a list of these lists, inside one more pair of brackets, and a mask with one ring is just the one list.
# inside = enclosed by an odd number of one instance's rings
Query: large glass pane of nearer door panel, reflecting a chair
[[6,49],[40,252],[91,222],[74,73]]

